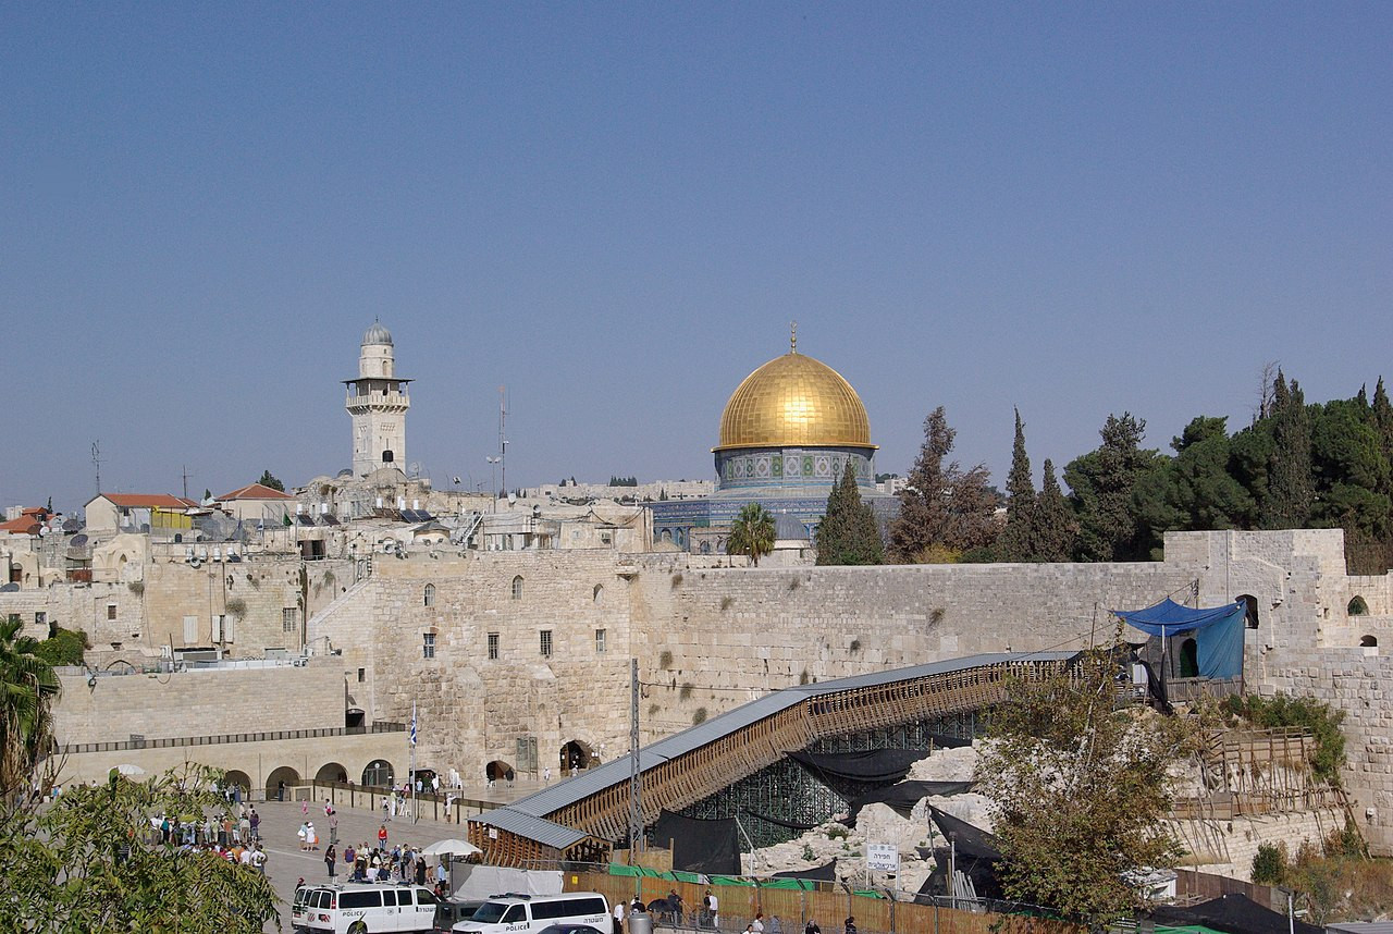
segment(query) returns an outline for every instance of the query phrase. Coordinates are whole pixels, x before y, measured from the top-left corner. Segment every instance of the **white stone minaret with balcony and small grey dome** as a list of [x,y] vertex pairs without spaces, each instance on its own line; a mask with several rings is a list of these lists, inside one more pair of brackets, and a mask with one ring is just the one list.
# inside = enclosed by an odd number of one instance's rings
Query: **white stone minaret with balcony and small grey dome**
[[410,379],[398,379],[391,335],[373,322],[362,336],[358,378],[345,379],[352,417],[352,473],[366,477],[379,467],[407,470],[407,396]]

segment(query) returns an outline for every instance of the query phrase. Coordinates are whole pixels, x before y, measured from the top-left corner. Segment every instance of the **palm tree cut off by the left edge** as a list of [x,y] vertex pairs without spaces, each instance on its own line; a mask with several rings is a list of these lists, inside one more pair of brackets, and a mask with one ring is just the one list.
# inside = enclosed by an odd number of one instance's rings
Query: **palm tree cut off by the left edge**
[[49,751],[49,707],[61,690],[53,666],[33,654],[38,640],[22,629],[14,615],[0,622],[0,797],[21,788]]

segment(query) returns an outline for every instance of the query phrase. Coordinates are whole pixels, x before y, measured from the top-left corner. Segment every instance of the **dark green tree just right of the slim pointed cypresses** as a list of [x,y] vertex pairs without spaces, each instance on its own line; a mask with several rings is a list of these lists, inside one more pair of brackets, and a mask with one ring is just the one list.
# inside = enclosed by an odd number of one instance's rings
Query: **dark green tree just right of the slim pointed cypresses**
[[1084,560],[1139,560],[1149,549],[1137,541],[1133,488],[1163,460],[1144,450],[1146,421],[1131,413],[1109,415],[1099,432],[1103,443],[1064,467],[1078,516],[1078,556]]

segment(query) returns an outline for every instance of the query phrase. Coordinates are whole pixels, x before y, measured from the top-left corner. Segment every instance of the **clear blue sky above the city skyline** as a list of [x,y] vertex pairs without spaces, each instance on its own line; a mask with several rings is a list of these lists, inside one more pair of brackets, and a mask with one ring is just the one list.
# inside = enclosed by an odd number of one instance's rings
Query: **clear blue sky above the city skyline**
[[503,383],[510,485],[710,477],[790,319],[883,471],[1393,379],[1387,3],[8,3],[0,85],[4,503],[348,466],[373,318],[437,484]]

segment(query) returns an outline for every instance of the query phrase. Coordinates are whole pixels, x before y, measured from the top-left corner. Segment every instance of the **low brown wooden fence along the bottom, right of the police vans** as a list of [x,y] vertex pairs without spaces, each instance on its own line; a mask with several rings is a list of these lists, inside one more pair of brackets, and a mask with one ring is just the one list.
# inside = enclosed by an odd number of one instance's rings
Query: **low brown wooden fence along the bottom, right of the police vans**
[[[702,896],[710,891],[719,899],[719,931],[744,931],[763,912],[765,934],[802,934],[809,919],[823,934],[841,934],[846,920],[855,919],[861,934],[1082,934],[1087,928],[1070,921],[1017,914],[976,913],[937,905],[896,902],[889,898],[858,895],[839,887],[822,885],[820,891],[768,888],[756,885],[698,885],[673,882],[651,875],[610,875],[593,871],[563,873],[570,892],[602,892],[610,899],[631,902],[638,895],[644,903],[676,891],[683,901],[684,917],[678,927],[701,928]],[[670,924],[670,919],[655,919]],[[712,930],[706,926],[705,930]]]

